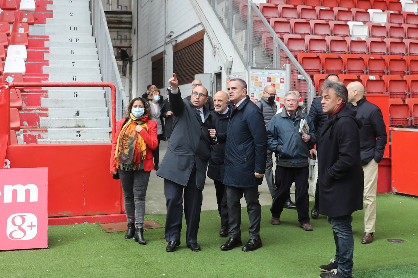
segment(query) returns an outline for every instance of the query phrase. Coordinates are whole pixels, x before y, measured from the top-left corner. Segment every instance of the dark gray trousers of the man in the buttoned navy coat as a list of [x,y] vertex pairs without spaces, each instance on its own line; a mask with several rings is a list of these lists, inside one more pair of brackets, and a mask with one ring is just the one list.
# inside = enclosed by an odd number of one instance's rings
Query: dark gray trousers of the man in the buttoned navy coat
[[232,238],[241,237],[241,203],[244,194],[247,202],[247,213],[250,218],[250,239],[260,238],[261,205],[258,201],[258,186],[237,188],[227,185],[228,223],[229,233]]

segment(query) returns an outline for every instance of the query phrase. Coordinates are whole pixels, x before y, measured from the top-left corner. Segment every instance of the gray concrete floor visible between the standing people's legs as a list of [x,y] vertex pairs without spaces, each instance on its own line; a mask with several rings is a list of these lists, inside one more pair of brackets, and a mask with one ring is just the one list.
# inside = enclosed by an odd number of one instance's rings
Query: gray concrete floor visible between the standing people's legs
[[[168,143],[166,141],[160,142],[160,163],[166,153]],[[273,166],[274,173],[275,166]],[[262,185],[259,186],[260,192],[259,200],[261,205],[271,205],[271,195],[267,187],[265,179]],[[291,194],[294,200],[294,194]],[[241,205],[245,206],[245,199],[241,199]],[[213,180],[206,177],[205,187],[203,190],[202,210],[217,210],[215,186]],[[166,214],[166,198],[164,197],[164,179],[155,175],[155,170],[151,171],[150,180],[148,183],[146,205],[146,214]]]

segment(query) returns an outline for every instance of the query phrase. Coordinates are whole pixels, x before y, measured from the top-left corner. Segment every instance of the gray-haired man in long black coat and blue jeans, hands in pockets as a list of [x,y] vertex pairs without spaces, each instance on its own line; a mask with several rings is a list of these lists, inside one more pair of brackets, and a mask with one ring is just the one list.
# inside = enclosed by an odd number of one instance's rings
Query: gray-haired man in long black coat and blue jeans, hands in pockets
[[354,238],[351,214],[363,209],[363,168],[359,128],[362,122],[346,104],[342,82],[325,81],[321,87],[322,110],[329,115],[322,126],[318,163],[319,213],[327,216],[334,233],[335,258],[319,269],[320,277],[352,277]]

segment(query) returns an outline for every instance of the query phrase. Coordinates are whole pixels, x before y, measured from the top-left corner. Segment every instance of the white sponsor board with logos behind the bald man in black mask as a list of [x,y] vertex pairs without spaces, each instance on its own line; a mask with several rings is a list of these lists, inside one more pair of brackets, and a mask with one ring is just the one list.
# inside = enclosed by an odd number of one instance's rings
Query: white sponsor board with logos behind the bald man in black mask
[[272,85],[276,88],[276,104],[279,108],[283,107],[286,88],[290,87],[286,70],[250,68],[248,72],[250,100],[256,103],[263,96],[264,87]]

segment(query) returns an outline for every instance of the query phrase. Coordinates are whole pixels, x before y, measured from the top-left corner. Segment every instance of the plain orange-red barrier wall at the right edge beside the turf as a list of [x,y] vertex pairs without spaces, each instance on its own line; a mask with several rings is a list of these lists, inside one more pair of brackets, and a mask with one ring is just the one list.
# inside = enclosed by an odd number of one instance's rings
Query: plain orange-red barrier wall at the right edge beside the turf
[[392,135],[392,190],[418,196],[418,129],[390,128]]

